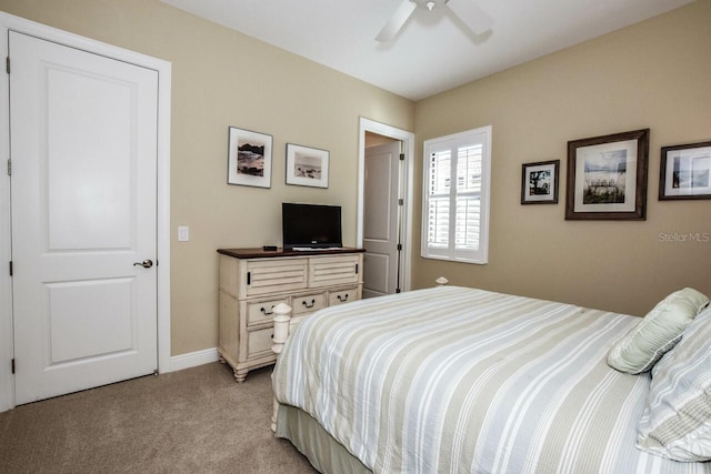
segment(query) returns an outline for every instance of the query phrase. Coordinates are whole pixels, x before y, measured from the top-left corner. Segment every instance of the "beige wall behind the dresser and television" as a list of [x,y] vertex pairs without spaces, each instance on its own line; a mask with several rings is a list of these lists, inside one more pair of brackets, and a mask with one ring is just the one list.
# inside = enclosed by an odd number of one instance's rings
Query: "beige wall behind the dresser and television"
[[[0,0],[0,10],[172,63],[172,354],[217,345],[219,248],[281,240],[281,202],[343,205],[356,243],[359,117],[413,130],[414,105],[158,0]],[[273,135],[271,189],[228,185],[227,131]],[[284,184],[286,143],[326,149],[329,189]],[[178,225],[190,242],[177,242]]]

